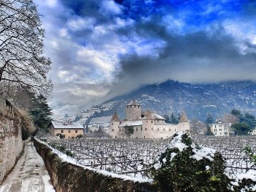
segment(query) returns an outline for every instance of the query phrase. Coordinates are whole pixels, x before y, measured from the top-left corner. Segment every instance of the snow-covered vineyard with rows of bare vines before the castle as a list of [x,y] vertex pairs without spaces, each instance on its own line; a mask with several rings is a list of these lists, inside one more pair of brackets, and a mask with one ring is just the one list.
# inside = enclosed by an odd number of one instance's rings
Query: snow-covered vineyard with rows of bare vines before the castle
[[[217,149],[226,159],[228,170],[233,173],[256,171],[255,165],[245,154],[245,146],[256,151],[256,137],[195,137],[202,145]],[[95,169],[136,178],[149,178],[150,164],[156,161],[169,139],[48,139],[56,149],[70,151],[78,164]]]

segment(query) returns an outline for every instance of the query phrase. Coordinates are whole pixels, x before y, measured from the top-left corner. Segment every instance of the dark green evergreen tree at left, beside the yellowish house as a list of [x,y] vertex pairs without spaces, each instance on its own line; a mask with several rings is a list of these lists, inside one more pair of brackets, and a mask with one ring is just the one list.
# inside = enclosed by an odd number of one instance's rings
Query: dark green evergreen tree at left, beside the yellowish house
[[32,107],[29,112],[32,116],[33,123],[37,128],[47,129],[48,124],[52,120],[50,116],[53,113],[47,103],[46,97],[43,95],[33,96],[31,103]]

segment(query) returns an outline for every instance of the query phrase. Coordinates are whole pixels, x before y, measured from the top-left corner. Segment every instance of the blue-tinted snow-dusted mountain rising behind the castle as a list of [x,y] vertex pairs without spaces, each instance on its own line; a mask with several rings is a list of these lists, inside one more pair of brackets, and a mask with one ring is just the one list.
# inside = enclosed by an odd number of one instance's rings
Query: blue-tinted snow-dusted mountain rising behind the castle
[[217,119],[225,113],[230,113],[233,108],[255,114],[256,82],[191,84],[167,80],[158,84],[144,85],[125,95],[107,100],[102,105],[97,105],[95,110],[97,112],[92,114],[94,117],[103,117],[117,110],[119,117],[123,119],[124,106],[132,99],[137,100],[144,111],[149,109],[161,115],[185,111],[188,119],[191,120],[196,118],[203,121],[208,113]]

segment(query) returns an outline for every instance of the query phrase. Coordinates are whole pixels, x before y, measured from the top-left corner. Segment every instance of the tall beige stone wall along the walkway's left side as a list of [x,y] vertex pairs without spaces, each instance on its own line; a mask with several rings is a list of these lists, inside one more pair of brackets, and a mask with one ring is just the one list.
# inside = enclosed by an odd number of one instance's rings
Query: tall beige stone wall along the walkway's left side
[[[3,102],[4,101],[4,102]],[[13,169],[23,149],[21,123],[13,106],[1,98],[0,105],[0,183]]]

